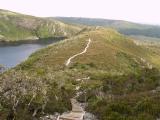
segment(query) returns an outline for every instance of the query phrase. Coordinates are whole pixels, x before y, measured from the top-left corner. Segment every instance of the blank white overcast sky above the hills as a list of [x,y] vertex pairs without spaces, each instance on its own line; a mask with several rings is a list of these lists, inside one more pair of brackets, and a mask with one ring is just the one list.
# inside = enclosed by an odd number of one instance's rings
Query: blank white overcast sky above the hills
[[40,17],[94,17],[160,25],[160,0],[0,0],[0,9]]

